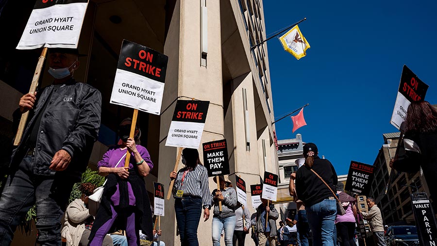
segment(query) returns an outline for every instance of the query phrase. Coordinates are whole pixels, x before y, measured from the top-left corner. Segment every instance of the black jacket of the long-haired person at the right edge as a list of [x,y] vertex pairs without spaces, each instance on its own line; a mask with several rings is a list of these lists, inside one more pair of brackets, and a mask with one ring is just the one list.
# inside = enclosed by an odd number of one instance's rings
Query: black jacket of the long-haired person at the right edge
[[422,168],[434,204],[437,199],[437,132],[405,133],[405,153],[394,163],[393,168],[407,173],[416,173]]

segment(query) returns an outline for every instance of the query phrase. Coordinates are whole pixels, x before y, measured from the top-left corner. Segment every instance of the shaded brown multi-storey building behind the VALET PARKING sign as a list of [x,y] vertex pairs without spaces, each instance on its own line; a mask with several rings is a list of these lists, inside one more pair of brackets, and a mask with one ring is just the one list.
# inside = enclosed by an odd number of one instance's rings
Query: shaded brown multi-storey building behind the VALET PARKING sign
[[383,134],[384,145],[373,164],[375,169],[370,197],[375,199],[381,209],[386,225],[414,224],[410,195],[417,191],[427,191],[426,182],[421,178],[420,172],[403,173],[390,168],[389,162],[395,157],[399,136],[399,132]]

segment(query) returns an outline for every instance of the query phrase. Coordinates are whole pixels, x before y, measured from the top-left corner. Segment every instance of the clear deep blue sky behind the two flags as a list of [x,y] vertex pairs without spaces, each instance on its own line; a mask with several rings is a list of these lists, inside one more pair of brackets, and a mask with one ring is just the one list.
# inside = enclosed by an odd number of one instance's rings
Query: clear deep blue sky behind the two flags
[[291,119],[276,123],[278,139],[314,142],[337,174],[351,160],[373,164],[390,124],[406,64],[430,87],[437,103],[437,1],[264,0],[266,33],[303,17],[311,45],[300,60],[268,41],[275,116],[305,107],[307,126],[294,133]]

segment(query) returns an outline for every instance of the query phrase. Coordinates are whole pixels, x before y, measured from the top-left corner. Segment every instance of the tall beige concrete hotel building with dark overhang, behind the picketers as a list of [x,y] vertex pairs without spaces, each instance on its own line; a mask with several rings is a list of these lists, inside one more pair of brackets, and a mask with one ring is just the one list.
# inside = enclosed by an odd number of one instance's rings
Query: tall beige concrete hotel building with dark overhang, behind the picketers
[[[15,49],[33,5],[34,1],[8,1],[0,18],[2,32],[8,33],[0,40],[1,148],[9,147],[15,135],[10,131],[12,113],[29,90],[41,52]],[[260,0],[91,0],[79,42],[85,56],[75,72],[78,81],[102,93],[101,131],[89,166],[96,168],[108,146],[117,143],[120,121],[133,114],[130,108],[109,103],[121,42],[127,39],[168,55],[161,115],[138,115],[142,145],[154,163],[146,178],[149,192],[152,181],[169,183],[175,164],[177,149],[165,143],[176,99],[210,101],[202,142],[227,139],[231,180],[241,176],[250,190],[249,184],[260,183],[265,170],[277,174],[267,44],[252,49],[266,39],[264,20]],[[47,69],[42,86],[52,81]],[[7,155],[2,163],[7,163]],[[216,184],[209,182],[212,191]],[[165,209],[161,239],[179,245],[173,198],[166,200]],[[211,244],[211,220],[212,214],[207,222],[201,219],[200,245]]]

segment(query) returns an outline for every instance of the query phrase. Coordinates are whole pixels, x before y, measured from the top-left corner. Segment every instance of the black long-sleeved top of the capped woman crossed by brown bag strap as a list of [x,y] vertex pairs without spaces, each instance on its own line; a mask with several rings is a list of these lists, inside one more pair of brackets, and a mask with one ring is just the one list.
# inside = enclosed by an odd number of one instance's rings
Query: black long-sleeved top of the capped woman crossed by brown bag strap
[[[314,156],[313,170],[336,192],[337,174],[334,166],[328,160]],[[310,207],[334,196],[306,165],[301,166],[296,172],[295,185],[297,197],[305,203],[305,207]]]

